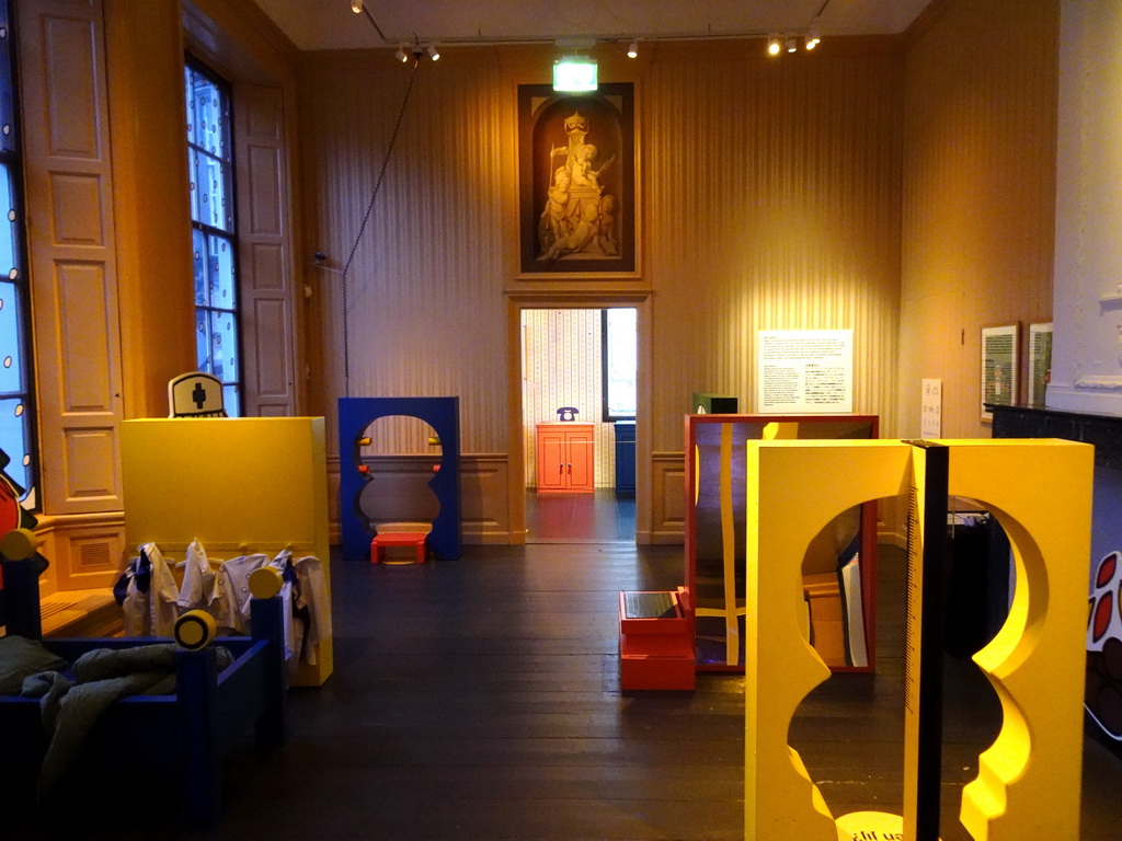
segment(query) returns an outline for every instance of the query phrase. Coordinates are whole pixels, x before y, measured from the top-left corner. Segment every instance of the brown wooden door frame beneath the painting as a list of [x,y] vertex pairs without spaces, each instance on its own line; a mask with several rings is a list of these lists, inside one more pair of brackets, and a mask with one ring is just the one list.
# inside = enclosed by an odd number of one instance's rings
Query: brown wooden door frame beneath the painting
[[523,309],[610,309],[636,311],[636,414],[635,414],[635,543],[651,543],[651,296],[650,290],[611,292],[605,289],[554,292],[527,289],[506,296],[507,389],[507,510],[511,543],[526,542],[525,452],[522,427],[522,311]]

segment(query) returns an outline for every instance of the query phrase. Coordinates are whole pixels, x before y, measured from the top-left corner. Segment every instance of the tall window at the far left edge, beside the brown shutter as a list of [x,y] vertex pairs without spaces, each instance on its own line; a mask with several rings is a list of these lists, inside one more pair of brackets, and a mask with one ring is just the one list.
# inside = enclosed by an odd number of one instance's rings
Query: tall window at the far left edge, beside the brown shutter
[[[0,0],[0,470],[36,509],[38,455],[31,385],[31,303],[27,284],[22,159],[16,105],[12,16]],[[6,462],[7,459],[7,462]]]

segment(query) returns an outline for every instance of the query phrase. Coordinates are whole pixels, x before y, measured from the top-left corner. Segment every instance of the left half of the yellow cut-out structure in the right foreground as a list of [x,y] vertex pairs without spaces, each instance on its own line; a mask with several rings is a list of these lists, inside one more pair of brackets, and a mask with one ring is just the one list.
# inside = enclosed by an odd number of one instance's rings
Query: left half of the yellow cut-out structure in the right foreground
[[895,496],[905,478],[910,447],[861,444],[746,444],[744,806],[753,841],[837,839],[829,808],[787,739],[799,704],[830,675],[800,627],[807,546],[837,514]]

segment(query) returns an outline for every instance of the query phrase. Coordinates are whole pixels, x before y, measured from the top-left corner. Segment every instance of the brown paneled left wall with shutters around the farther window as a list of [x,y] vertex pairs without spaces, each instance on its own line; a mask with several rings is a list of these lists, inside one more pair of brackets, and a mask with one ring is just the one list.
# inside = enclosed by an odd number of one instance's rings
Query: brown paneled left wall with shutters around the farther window
[[[15,8],[43,468],[37,533],[52,561],[49,593],[117,577],[127,505],[120,422],[166,414],[167,380],[194,367],[185,40],[232,81],[268,85],[254,89],[267,107],[241,112],[248,142],[239,157],[256,176],[239,183],[252,222],[245,244],[256,249],[241,274],[256,303],[248,317],[260,364],[250,388],[284,398],[252,405],[292,410],[293,336],[305,321],[294,313],[288,253],[296,62],[252,3],[18,0]],[[250,89],[239,92],[248,102]],[[263,142],[272,157],[260,154]],[[260,166],[269,160],[278,163]],[[269,248],[280,256],[266,259]]]

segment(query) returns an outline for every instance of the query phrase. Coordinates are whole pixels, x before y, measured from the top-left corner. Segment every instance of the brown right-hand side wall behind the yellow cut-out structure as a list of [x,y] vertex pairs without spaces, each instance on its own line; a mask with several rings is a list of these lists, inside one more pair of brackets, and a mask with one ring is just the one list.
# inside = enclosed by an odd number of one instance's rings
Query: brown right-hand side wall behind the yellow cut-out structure
[[988,437],[982,327],[1050,320],[1058,26],[1055,0],[939,0],[908,52],[896,434],[938,378],[942,435]]

